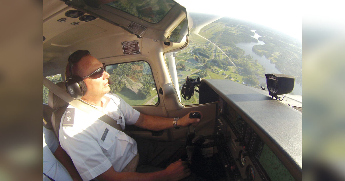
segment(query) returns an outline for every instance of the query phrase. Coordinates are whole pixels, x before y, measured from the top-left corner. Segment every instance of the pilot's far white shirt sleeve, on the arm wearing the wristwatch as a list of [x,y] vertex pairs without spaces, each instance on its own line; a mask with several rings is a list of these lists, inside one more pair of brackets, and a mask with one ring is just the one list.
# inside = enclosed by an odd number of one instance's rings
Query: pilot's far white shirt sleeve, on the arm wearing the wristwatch
[[121,97],[114,94],[114,97],[116,97],[119,102],[115,102],[119,105],[119,108],[125,116],[125,121],[127,125],[133,125],[137,122],[140,112],[132,108],[125,100],[123,100]]

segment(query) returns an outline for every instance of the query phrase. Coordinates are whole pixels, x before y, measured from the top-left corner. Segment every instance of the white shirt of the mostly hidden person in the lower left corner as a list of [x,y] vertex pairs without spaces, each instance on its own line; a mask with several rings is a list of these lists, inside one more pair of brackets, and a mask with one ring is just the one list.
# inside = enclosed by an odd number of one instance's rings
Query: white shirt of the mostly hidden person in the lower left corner
[[[66,168],[53,155],[58,146],[59,141],[55,137],[55,133],[43,127],[43,173],[56,181],[72,181]],[[50,181],[46,175],[42,175],[43,181]]]

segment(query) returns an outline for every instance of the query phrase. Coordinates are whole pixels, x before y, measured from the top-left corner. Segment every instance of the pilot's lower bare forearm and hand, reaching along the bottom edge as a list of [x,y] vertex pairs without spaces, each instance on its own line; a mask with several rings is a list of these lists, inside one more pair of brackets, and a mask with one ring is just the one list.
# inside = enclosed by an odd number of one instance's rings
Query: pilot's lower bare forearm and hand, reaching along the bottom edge
[[187,163],[178,160],[171,163],[165,170],[152,173],[138,173],[138,172],[116,172],[114,168],[110,167],[104,173],[98,175],[98,180],[181,180],[190,175]]

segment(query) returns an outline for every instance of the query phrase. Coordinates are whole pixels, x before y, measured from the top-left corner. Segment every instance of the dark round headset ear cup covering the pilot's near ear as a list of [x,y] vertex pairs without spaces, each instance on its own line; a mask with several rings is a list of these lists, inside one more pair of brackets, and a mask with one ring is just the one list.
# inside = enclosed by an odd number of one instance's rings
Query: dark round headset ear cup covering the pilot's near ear
[[73,99],[82,98],[87,91],[85,82],[79,76],[68,78],[66,80],[66,89]]

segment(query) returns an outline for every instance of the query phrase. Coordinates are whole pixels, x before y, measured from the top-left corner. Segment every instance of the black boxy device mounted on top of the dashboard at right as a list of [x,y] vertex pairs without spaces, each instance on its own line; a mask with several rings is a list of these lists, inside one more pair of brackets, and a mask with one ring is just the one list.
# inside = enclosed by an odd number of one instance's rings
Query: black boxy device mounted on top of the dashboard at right
[[278,95],[290,93],[294,89],[295,78],[285,74],[265,74],[269,95],[278,99]]

